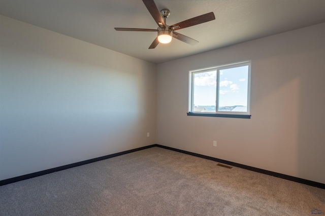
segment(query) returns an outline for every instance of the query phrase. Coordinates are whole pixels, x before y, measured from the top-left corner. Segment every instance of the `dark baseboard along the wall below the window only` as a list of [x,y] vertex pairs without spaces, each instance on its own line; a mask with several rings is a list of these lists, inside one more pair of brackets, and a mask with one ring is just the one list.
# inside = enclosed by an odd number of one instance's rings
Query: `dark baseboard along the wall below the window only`
[[313,187],[325,189],[325,184],[322,184],[322,183],[319,183],[319,182],[313,182],[313,181],[306,180],[306,179],[301,179],[301,178],[297,178],[297,177],[293,177],[293,176],[280,174],[278,172],[273,172],[273,171],[269,171],[269,170],[265,170],[265,169],[260,169],[260,168],[256,168],[256,167],[253,167],[253,166],[247,166],[247,165],[243,165],[243,164],[240,164],[240,163],[231,162],[231,161],[228,161],[228,160],[222,160],[222,159],[209,157],[209,156],[206,156],[206,155],[197,154],[197,153],[193,153],[193,152],[188,152],[188,151],[184,151],[184,150],[180,150],[180,149],[175,149],[175,148],[171,148],[171,147],[167,147],[167,146],[162,146],[162,145],[158,145],[158,144],[156,146],[160,147],[160,148],[164,148],[164,149],[169,149],[169,150],[181,152],[181,153],[184,153],[184,154],[189,154],[189,155],[196,156],[196,157],[201,157],[201,158],[208,159],[208,160],[213,160],[213,161],[228,164],[228,165],[231,165],[231,166],[236,166],[236,167],[239,167],[239,168],[248,169],[248,170],[259,172],[259,173],[266,174],[266,175],[269,175],[269,176],[274,176],[274,177],[278,177],[278,178],[281,178],[281,179],[286,179],[286,180],[290,180],[290,181],[293,181],[293,182],[298,182],[298,183],[302,183],[302,184],[305,184],[305,185],[310,185],[310,186],[313,186]]

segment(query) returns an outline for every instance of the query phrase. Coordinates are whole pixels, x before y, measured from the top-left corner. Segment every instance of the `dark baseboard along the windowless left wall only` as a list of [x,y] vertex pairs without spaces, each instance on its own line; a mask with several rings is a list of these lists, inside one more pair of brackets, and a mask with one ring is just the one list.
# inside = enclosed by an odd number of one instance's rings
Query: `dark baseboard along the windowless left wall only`
[[18,177],[14,177],[14,178],[11,178],[11,179],[1,180],[0,181],[0,186],[11,184],[11,183],[14,183],[14,182],[19,182],[19,181],[34,178],[34,177],[43,176],[43,175],[46,175],[46,174],[50,174],[52,172],[56,172],[56,171],[60,171],[60,170],[64,170],[64,169],[69,169],[69,168],[76,167],[76,166],[81,166],[81,165],[84,165],[84,164],[87,164],[87,163],[92,163],[92,162],[96,162],[96,161],[100,161],[100,160],[105,160],[105,159],[108,159],[108,158],[111,158],[111,157],[116,157],[116,156],[120,156],[120,155],[123,155],[123,154],[128,154],[128,153],[131,153],[131,152],[136,152],[136,151],[152,148],[152,147],[155,147],[155,146],[157,146],[157,145],[154,144],[154,145],[145,146],[145,147],[141,147],[141,148],[131,149],[131,150],[123,151],[123,152],[118,152],[118,153],[115,153],[115,154],[110,154],[110,155],[106,155],[106,156],[102,156],[102,157],[96,157],[96,158],[93,158],[93,159],[84,160],[84,161],[80,161],[80,162],[76,162],[76,163],[72,163],[72,164],[68,164],[68,165],[63,165],[63,166],[59,166],[59,167],[55,167],[55,168],[51,168],[51,169],[46,169],[46,170],[42,170],[42,171],[38,171],[38,172],[33,172],[31,174],[18,176]]

